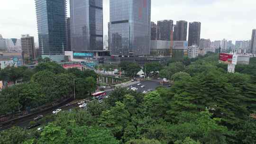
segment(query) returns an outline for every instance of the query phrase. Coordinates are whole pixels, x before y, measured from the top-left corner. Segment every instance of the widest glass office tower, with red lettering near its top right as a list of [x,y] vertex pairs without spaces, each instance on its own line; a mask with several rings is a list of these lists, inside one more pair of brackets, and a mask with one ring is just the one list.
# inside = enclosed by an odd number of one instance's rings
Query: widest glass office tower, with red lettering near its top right
[[150,54],[151,0],[110,0],[110,54]]

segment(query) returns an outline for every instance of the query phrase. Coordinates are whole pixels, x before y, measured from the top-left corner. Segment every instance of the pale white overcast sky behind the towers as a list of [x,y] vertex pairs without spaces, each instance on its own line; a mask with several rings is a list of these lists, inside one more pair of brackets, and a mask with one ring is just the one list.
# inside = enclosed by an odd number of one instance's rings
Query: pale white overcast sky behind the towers
[[[103,0],[103,9],[107,35],[109,0]],[[200,21],[201,38],[235,43],[250,39],[256,29],[256,0],[152,0],[151,21],[163,19]],[[1,0],[0,34],[4,38],[29,34],[38,41],[35,0]]]

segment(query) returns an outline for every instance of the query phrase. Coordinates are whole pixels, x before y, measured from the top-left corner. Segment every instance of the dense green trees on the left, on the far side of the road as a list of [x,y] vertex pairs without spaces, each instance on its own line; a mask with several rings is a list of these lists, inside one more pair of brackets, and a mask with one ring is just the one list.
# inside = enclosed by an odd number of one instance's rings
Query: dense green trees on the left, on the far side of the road
[[73,95],[73,83],[77,98],[88,97],[96,90],[97,74],[79,69],[65,70],[55,62],[39,63],[35,69],[7,67],[0,71],[3,81],[17,83],[0,91],[0,115],[37,108]]

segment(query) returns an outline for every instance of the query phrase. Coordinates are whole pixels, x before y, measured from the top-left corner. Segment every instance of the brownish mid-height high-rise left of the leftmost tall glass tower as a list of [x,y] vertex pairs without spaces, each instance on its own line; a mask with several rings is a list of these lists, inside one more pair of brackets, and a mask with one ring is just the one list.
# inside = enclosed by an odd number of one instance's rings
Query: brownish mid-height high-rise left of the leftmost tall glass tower
[[21,49],[22,49],[23,57],[36,59],[34,36],[22,35],[21,36]]

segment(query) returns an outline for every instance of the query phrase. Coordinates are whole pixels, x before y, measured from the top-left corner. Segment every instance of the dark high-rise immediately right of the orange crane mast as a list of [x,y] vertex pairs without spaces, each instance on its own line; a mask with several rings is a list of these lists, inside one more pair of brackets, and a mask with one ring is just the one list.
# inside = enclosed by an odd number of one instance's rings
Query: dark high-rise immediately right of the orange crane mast
[[187,27],[188,22],[184,20],[176,21],[176,25],[174,25],[174,41],[187,40]]

